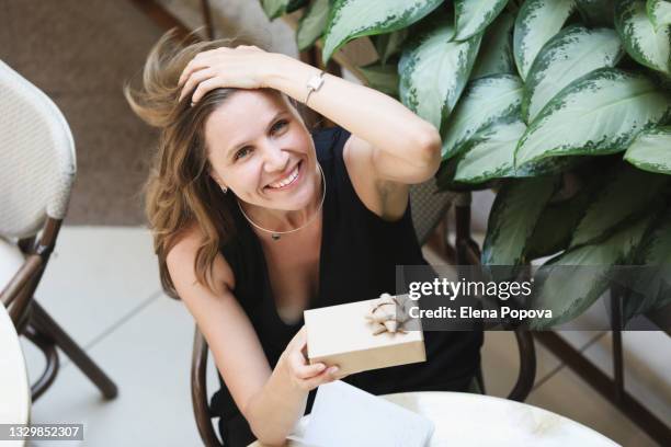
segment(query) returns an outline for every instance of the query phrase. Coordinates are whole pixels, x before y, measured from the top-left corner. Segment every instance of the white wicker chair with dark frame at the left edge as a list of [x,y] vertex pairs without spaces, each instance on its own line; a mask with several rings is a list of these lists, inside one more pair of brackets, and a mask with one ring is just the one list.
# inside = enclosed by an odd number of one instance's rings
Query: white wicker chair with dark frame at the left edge
[[45,355],[33,402],[58,373],[60,347],[112,399],[116,386],[34,299],[76,174],[72,135],[58,107],[0,61],[0,301],[16,332]]

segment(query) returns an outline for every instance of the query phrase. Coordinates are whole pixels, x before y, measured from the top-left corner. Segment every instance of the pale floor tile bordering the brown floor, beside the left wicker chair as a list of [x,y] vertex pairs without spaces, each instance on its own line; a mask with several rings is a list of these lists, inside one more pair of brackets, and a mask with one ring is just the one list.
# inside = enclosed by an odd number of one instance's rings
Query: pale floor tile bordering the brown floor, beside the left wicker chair
[[[64,227],[35,297],[86,347],[159,290],[158,264],[147,229]],[[32,346],[25,351],[33,375],[32,365],[42,359]]]

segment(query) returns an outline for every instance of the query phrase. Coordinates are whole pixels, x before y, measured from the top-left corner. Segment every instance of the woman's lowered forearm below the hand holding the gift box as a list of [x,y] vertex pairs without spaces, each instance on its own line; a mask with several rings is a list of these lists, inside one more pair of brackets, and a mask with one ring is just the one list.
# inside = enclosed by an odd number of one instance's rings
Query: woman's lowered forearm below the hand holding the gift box
[[281,357],[262,390],[252,397],[244,417],[261,443],[283,445],[296,422],[305,413],[308,391],[295,387]]

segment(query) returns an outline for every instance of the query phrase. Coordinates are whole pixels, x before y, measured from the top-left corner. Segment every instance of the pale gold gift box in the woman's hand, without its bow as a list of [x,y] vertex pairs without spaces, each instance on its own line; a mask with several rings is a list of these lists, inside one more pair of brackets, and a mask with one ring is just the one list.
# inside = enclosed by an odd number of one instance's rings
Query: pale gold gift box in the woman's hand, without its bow
[[[388,295],[386,297],[391,298]],[[407,310],[408,306],[413,306],[407,296],[394,298],[402,303],[400,309]],[[419,319],[401,324],[399,332],[384,331],[382,328],[384,332],[378,330],[377,332],[382,333],[375,334],[380,326],[369,321],[366,316],[372,314],[372,309],[376,308],[380,299],[383,298],[304,311],[309,363],[338,365],[338,374],[349,375],[425,362],[424,335]],[[405,314],[407,316],[407,312]]]

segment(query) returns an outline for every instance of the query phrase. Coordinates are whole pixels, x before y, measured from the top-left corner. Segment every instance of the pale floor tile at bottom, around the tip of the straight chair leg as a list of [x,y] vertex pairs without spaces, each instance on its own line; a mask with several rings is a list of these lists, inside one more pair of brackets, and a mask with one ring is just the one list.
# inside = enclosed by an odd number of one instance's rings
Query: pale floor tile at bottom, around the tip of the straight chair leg
[[44,446],[200,445],[190,394],[193,328],[181,302],[160,296],[95,344],[90,354],[120,388],[112,401],[65,367],[35,402],[33,422],[83,423],[84,442]]

